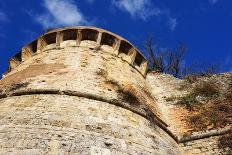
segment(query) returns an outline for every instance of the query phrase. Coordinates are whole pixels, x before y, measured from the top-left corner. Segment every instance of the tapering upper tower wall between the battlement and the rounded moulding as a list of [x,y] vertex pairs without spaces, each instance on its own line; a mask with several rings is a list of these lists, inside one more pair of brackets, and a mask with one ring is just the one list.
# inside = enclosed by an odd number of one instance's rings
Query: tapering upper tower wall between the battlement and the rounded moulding
[[150,109],[160,117],[144,77],[121,57],[103,50],[72,46],[46,49],[18,65],[0,84],[5,93],[11,93],[11,87],[21,84],[23,87],[14,91],[70,91],[125,104],[132,97],[129,103],[133,103],[127,107],[143,115],[150,115],[147,113]]

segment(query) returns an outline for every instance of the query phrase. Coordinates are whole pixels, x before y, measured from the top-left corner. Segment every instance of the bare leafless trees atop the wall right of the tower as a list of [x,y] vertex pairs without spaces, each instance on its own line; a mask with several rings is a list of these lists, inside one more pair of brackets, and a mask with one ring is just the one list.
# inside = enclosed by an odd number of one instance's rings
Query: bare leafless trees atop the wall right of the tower
[[152,37],[145,41],[145,49],[150,61],[150,69],[171,74],[177,78],[184,78],[188,75],[205,76],[219,72],[218,63],[209,64],[202,61],[192,65],[184,66],[184,58],[187,53],[187,47],[179,44],[175,49],[161,51],[153,43]]

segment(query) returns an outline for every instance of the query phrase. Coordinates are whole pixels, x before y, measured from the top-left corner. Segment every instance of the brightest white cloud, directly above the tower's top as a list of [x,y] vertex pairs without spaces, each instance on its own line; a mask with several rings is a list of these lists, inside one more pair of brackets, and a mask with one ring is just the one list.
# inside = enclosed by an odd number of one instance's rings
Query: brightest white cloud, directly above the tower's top
[[36,20],[44,28],[85,25],[87,21],[72,0],[43,0],[47,13]]

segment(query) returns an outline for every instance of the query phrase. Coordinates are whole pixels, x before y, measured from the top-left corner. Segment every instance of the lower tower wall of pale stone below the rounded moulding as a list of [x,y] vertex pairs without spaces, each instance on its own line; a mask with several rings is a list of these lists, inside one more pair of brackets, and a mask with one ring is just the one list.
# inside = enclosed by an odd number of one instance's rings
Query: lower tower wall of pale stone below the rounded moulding
[[159,127],[124,108],[83,97],[0,99],[0,154],[179,154]]

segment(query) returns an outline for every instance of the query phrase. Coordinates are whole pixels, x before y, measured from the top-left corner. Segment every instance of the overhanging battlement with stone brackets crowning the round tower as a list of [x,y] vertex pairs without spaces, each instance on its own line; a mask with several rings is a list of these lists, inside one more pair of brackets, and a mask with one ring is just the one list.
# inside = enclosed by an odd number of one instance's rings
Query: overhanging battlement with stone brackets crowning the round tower
[[143,76],[147,73],[148,61],[143,54],[126,39],[109,31],[95,27],[66,27],[51,30],[30,44],[24,46],[9,61],[9,69],[5,74],[11,72],[23,61],[34,54],[65,47],[87,47],[95,50],[103,50],[122,58],[134,67]]

